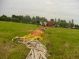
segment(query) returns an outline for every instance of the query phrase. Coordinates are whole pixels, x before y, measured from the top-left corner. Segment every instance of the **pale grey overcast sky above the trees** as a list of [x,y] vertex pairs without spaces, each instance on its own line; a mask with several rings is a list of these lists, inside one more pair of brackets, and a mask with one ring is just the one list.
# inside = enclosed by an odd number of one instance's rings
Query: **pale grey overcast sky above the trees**
[[79,0],[0,0],[0,15],[74,19],[79,24]]

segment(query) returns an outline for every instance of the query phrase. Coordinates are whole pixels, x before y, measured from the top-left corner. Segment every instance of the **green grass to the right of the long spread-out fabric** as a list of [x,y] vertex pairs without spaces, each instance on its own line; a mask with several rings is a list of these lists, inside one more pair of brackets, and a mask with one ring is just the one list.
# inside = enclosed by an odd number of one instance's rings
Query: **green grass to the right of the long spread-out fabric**
[[49,59],[79,59],[79,30],[49,28],[45,33]]

